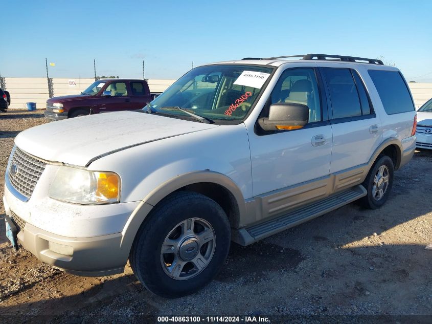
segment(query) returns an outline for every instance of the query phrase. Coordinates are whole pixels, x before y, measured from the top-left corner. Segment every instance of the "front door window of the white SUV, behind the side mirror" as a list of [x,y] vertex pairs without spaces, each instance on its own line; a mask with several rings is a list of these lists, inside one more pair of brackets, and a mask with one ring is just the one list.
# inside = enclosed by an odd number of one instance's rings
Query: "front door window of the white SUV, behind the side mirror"
[[309,122],[321,121],[321,103],[313,69],[288,69],[271,93],[271,103],[293,102],[309,107]]

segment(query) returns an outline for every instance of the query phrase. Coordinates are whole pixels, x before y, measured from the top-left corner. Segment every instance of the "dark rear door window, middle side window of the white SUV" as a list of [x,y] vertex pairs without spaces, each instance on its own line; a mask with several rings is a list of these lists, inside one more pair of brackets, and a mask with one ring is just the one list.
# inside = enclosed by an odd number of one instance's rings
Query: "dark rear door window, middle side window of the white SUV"
[[361,116],[357,87],[349,69],[323,68],[330,93],[333,118]]

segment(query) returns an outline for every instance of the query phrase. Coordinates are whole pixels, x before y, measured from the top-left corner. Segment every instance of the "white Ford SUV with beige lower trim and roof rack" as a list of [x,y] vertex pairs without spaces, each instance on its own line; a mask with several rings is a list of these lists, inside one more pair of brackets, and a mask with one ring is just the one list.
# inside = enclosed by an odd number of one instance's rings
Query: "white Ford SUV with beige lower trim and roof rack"
[[195,68],[143,110],[20,133],[7,235],[42,262],[102,276],[129,260],[150,291],[197,291],[248,245],[360,200],[378,208],[416,146],[400,71],[309,54]]

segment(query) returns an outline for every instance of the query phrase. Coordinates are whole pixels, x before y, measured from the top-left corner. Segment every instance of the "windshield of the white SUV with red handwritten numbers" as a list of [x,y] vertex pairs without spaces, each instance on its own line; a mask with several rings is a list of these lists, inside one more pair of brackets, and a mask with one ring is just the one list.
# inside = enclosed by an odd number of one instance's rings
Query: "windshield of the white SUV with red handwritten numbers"
[[208,120],[240,120],[264,89],[273,68],[213,65],[195,68],[178,79],[144,110]]

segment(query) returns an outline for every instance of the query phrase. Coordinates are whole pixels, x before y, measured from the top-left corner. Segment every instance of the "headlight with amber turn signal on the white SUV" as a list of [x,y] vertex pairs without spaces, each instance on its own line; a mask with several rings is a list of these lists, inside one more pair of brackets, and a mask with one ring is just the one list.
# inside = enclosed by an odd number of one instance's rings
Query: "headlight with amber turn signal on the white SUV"
[[76,204],[117,203],[120,201],[120,177],[114,172],[60,166],[49,196]]

